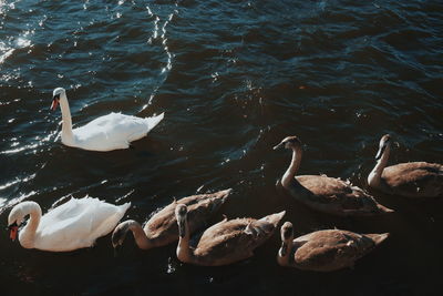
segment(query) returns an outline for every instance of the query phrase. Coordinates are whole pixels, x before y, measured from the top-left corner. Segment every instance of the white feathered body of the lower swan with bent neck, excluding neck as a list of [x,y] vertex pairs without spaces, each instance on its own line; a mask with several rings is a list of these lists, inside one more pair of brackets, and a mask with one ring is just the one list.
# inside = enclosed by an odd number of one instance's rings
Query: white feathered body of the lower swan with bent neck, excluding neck
[[115,206],[92,197],[71,198],[42,216],[34,247],[64,252],[92,246],[115,227],[130,205]]

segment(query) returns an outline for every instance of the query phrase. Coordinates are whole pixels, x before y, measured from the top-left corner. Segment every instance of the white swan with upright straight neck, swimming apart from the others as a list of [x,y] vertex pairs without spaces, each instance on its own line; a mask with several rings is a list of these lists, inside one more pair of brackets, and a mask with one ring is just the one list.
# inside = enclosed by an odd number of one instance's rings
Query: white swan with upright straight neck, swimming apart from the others
[[72,130],[71,111],[63,88],[53,91],[51,109],[55,110],[59,103],[63,120],[62,143],[92,151],[127,149],[130,142],[145,136],[164,118],[164,113],[142,119],[113,112]]

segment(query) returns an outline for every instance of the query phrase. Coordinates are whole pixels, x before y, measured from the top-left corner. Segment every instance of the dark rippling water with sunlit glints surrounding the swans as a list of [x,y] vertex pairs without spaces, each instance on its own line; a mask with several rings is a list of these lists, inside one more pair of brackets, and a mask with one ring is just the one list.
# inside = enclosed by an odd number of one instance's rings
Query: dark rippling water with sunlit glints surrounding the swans
[[[441,1],[1,1],[0,227],[11,206],[43,212],[66,196],[131,201],[146,221],[174,197],[233,187],[229,217],[287,210],[297,235],[339,227],[390,232],[354,269],[281,268],[275,235],[249,261],[183,265],[175,246],[119,257],[110,237],[69,254],[0,236],[1,295],[429,295],[442,290],[443,201],[377,194],[396,213],[338,218],[275,188],[296,134],[300,173],[365,187],[380,136],[391,163],[443,163]],[[121,111],[165,120],[134,150],[63,146],[52,90],[68,90],[74,125]],[[214,223],[222,218],[222,213]]]

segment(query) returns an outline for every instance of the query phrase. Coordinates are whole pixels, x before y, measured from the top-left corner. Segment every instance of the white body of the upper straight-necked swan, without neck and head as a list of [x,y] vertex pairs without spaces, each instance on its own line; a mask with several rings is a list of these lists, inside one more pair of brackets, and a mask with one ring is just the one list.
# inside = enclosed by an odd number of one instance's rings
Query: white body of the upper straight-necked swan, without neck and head
[[145,119],[121,113],[100,116],[72,131],[75,146],[95,151],[127,149],[130,142],[145,136],[163,118],[164,113]]

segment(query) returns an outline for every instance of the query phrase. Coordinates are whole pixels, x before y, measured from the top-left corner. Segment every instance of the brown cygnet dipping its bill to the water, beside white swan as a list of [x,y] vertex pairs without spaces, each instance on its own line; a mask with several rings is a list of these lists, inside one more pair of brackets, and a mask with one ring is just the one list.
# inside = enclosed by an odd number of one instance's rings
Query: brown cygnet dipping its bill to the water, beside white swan
[[112,245],[115,247],[123,244],[126,233],[131,231],[135,243],[142,249],[168,245],[178,239],[178,226],[175,217],[175,207],[185,204],[189,211],[189,232],[206,225],[208,220],[226,202],[231,190],[224,190],[209,194],[199,194],[183,197],[165,206],[153,215],[145,226],[136,221],[128,220],[119,224],[112,234]]

